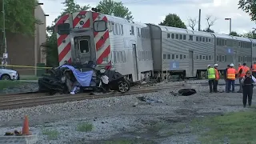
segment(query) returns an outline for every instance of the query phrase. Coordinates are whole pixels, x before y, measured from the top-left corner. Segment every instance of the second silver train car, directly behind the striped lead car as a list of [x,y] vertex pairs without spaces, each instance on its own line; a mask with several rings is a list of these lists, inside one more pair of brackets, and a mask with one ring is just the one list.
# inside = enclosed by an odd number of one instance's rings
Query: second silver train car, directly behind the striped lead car
[[170,26],[150,26],[154,74],[196,77],[214,64],[214,34]]

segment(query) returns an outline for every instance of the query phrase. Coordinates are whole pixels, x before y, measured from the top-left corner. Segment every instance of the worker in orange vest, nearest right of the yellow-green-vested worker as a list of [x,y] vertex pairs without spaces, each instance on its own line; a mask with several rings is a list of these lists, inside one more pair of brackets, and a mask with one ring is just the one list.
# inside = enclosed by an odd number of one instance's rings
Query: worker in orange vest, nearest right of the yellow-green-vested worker
[[236,70],[234,69],[234,64],[231,63],[230,64],[230,68],[226,71],[226,79],[228,81],[228,85],[227,85],[227,93],[230,92],[230,88],[232,86],[232,93],[234,93],[234,81],[235,81],[235,73]]

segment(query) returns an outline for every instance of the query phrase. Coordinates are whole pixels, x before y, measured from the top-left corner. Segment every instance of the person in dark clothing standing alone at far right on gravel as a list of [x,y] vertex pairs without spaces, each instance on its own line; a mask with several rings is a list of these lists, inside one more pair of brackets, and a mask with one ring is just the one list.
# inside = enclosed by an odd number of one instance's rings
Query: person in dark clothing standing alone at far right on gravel
[[248,105],[251,106],[251,101],[253,97],[254,82],[256,79],[251,75],[250,70],[246,71],[246,75],[242,78],[242,103],[243,107],[246,107],[246,102],[248,98]]

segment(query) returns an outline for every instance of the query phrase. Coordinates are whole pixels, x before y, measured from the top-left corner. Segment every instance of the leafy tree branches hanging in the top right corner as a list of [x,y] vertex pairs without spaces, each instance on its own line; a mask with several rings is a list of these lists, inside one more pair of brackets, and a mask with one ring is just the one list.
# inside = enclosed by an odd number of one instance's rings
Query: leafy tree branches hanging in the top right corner
[[252,21],[256,20],[256,2],[255,0],[239,0],[238,9],[245,11],[250,14],[250,19]]

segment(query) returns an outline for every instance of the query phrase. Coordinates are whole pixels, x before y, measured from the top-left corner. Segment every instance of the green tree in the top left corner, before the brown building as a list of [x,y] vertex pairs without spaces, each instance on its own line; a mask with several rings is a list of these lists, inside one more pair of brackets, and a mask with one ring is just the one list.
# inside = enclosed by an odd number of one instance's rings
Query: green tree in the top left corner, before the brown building
[[[34,34],[35,23],[40,23],[34,18],[34,8],[38,5],[37,0],[5,0],[5,25],[6,32],[19,34]],[[0,1],[2,11],[2,1]],[[0,14],[0,26],[2,28],[3,17]]]

